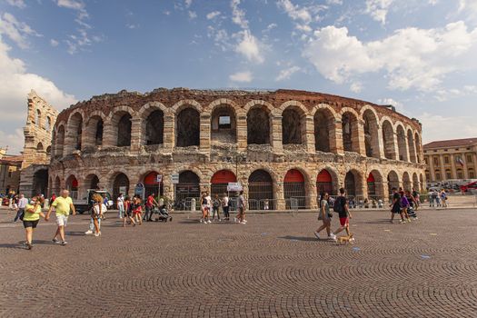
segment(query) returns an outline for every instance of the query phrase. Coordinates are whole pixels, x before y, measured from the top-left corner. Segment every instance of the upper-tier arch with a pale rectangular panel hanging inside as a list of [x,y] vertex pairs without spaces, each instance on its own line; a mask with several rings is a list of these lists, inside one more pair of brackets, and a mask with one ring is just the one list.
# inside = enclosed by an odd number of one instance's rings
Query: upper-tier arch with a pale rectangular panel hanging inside
[[[224,100],[226,104],[214,104]],[[237,114],[234,103],[220,99],[209,105],[211,114],[211,140],[213,143],[234,144],[237,141]]]

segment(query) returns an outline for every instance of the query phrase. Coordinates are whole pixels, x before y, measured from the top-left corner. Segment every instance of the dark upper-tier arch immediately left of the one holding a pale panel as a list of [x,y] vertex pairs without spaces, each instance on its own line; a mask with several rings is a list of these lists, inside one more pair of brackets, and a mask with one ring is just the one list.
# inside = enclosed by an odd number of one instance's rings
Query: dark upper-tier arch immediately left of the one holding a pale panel
[[181,104],[175,116],[175,145],[177,147],[199,146],[201,115],[194,105]]

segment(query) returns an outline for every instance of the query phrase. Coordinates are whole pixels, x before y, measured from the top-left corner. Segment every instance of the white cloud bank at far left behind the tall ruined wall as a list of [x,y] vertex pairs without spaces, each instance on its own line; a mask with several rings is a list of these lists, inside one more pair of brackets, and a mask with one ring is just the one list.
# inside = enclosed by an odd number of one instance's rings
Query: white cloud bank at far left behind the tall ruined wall
[[[0,35],[0,136],[7,136],[7,139],[2,139],[4,143],[8,141],[13,152],[19,153],[23,147],[23,134],[18,134],[15,130],[25,124],[26,95],[31,89],[35,89],[36,93],[55,105],[56,109],[63,109],[74,104],[76,100],[75,96],[65,94],[45,77],[28,73],[25,63],[9,56],[9,51],[10,47],[3,42]],[[8,137],[10,135],[20,135],[21,138],[12,140]]]

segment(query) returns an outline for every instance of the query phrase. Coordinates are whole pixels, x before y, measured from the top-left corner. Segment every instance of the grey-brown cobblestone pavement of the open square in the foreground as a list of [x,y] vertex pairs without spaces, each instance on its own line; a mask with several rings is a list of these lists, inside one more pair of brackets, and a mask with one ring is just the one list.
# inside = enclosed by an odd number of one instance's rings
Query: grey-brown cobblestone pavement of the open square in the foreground
[[109,217],[98,238],[80,215],[67,246],[51,243],[54,220],[41,222],[31,251],[0,214],[2,317],[477,316],[476,210],[423,211],[411,224],[355,212],[356,243],[342,246],[313,237],[310,213],[246,225],[175,214],[125,229]]

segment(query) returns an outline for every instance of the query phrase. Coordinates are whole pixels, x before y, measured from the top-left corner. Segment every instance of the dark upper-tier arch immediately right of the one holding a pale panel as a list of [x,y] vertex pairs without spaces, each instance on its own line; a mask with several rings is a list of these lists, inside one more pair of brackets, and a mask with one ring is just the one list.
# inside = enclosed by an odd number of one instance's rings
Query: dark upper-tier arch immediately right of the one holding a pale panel
[[247,112],[247,144],[272,144],[272,113],[268,107],[255,104]]

